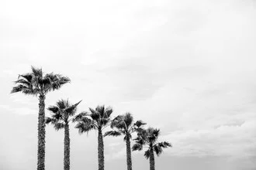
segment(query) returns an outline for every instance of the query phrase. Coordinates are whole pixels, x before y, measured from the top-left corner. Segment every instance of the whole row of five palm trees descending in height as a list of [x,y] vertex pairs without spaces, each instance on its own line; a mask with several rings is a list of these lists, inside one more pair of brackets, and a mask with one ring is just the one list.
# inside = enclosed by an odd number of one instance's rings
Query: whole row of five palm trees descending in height
[[[25,73],[18,76],[15,81],[16,86],[12,88],[11,93],[25,93],[33,95],[39,99],[38,115],[38,148],[37,148],[37,170],[45,169],[45,126],[53,124],[58,131],[64,129],[64,170],[70,169],[70,122],[76,123],[75,128],[80,134],[88,133],[95,130],[98,132],[98,162],[99,170],[104,170],[104,142],[106,136],[123,135],[126,142],[126,164],[127,170],[132,170],[131,151],[141,151],[147,148],[144,156],[150,159],[150,170],[154,170],[154,153],[158,156],[162,153],[163,148],[171,147],[167,141],[158,142],[157,138],[160,130],[156,128],[144,129],[143,121],[133,121],[130,113],[118,115],[111,119],[112,108],[98,106],[95,109],[89,108],[89,112],[83,111],[76,114],[79,101],[71,104],[68,100],[58,100],[56,105],[50,106],[51,116],[45,117],[45,98],[50,91],[60,89],[65,83],[70,83],[67,76],[61,74],[47,73],[43,74],[42,69],[36,69],[32,66],[31,73]],[[103,134],[103,129],[110,126],[111,131]],[[137,138],[133,139],[135,144],[131,148],[132,134],[137,133]]]

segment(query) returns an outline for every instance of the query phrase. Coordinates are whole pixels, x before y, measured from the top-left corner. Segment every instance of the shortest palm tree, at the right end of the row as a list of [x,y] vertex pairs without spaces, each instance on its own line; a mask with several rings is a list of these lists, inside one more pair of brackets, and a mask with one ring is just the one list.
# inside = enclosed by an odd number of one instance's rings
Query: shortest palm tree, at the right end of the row
[[141,151],[143,146],[147,146],[144,156],[150,158],[150,170],[154,170],[154,152],[157,156],[161,155],[163,148],[172,147],[171,143],[167,141],[158,142],[158,136],[160,130],[157,128],[147,128],[147,130],[138,132],[137,138],[135,138],[136,144],[133,145],[133,151]]

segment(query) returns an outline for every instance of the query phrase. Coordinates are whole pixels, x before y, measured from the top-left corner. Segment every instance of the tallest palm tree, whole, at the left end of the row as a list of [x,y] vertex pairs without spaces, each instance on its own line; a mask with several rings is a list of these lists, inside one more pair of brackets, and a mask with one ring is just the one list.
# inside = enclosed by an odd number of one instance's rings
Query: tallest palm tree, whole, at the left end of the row
[[44,170],[45,162],[45,97],[50,91],[60,89],[65,83],[70,82],[67,76],[60,74],[43,74],[42,69],[31,67],[31,73],[25,73],[18,76],[15,81],[16,87],[12,88],[11,93],[25,93],[33,95],[39,99],[38,114],[38,146],[37,146],[37,170]]

